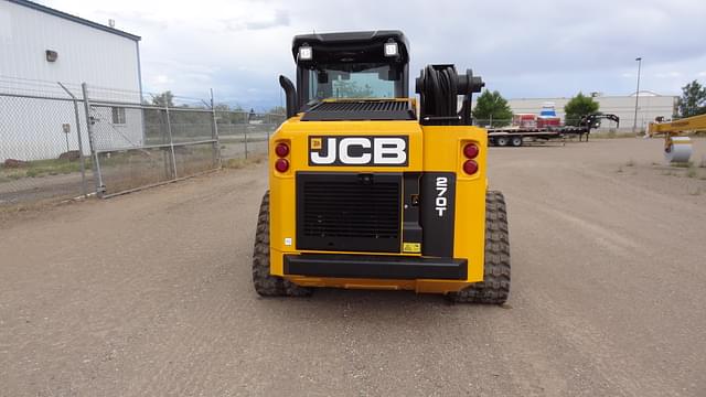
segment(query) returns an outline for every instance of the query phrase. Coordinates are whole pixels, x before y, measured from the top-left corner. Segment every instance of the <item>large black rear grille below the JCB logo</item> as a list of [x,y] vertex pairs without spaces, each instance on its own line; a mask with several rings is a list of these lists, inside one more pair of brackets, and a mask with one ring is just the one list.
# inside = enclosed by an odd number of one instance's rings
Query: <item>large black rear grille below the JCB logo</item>
[[301,173],[300,249],[399,251],[398,174]]

